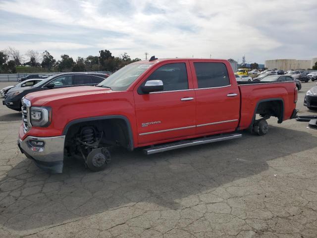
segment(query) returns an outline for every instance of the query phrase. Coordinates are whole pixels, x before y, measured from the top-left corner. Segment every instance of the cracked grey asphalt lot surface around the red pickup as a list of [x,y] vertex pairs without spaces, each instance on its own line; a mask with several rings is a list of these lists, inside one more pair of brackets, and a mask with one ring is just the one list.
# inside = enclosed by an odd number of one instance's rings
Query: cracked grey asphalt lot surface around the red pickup
[[[317,115],[303,106],[314,85],[302,84],[300,114]],[[317,237],[317,130],[308,122],[273,118],[262,137],[117,151],[105,171],[67,161],[49,175],[18,150],[20,113],[0,106],[1,238]]]

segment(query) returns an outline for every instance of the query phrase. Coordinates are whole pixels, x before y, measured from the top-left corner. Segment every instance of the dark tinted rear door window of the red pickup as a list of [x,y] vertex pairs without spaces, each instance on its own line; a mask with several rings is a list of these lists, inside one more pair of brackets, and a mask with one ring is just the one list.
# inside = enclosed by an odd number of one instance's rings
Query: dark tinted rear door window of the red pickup
[[230,85],[227,67],[224,63],[195,62],[198,88],[214,88]]

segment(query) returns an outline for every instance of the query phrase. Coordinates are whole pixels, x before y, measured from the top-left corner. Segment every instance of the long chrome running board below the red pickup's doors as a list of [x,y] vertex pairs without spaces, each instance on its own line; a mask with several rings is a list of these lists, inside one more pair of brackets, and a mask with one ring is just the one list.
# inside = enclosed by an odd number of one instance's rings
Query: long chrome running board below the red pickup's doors
[[174,149],[179,149],[179,148],[184,148],[184,147],[189,147],[194,145],[202,145],[202,144],[213,143],[213,142],[223,141],[223,140],[231,140],[231,139],[240,138],[240,137],[242,137],[242,134],[236,133],[236,134],[210,136],[210,137],[205,137],[205,138],[195,139],[195,140],[185,140],[185,141],[179,141],[179,142],[174,142],[174,143],[169,143],[164,145],[153,146],[151,148],[144,149],[143,153],[146,155],[151,155],[151,154],[156,154],[156,153],[164,152],[168,150],[174,150]]

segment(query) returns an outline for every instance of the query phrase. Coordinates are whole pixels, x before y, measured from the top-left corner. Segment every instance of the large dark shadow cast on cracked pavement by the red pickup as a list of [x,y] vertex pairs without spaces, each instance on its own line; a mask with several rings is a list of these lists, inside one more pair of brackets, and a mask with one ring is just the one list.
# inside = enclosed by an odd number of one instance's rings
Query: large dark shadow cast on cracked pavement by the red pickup
[[[141,210],[194,206],[197,194],[228,193],[224,186],[231,182],[246,186],[243,179],[265,173],[269,160],[314,147],[316,137],[307,132],[270,126],[262,137],[244,132],[238,140],[151,156],[141,150],[117,152],[108,168],[98,173],[69,160],[63,174],[49,175],[23,159],[0,181],[1,229],[30,233],[127,206]],[[262,192],[257,184],[248,186],[253,193]]]

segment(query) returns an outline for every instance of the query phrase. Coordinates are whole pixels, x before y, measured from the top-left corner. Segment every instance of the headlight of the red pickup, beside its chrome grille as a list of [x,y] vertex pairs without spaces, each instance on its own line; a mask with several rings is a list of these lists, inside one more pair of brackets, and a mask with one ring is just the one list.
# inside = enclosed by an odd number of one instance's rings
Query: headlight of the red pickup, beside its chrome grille
[[31,107],[30,119],[32,126],[48,127],[52,121],[52,109],[50,107]]

